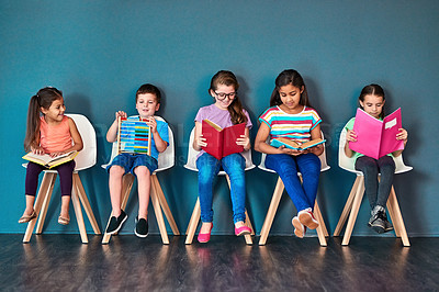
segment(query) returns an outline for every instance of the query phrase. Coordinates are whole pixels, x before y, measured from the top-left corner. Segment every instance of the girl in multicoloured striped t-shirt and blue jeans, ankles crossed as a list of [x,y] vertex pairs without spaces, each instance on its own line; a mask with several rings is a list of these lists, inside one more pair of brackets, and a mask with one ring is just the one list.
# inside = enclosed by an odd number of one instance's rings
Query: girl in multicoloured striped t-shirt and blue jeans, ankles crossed
[[[322,138],[322,120],[311,108],[305,83],[296,70],[284,70],[278,76],[270,106],[259,117],[261,124],[255,139],[255,149],[267,154],[266,166],[281,177],[299,211],[297,216],[292,220],[294,234],[302,238],[306,227],[318,227],[313,209],[320,175],[318,156],[323,153],[323,145],[306,150],[293,150],[284,146],[275,148],[267,143],[267,138],[270,136],[270,143],[277,137],[299,143]],[[303,184],[297,172],[302,173]]]

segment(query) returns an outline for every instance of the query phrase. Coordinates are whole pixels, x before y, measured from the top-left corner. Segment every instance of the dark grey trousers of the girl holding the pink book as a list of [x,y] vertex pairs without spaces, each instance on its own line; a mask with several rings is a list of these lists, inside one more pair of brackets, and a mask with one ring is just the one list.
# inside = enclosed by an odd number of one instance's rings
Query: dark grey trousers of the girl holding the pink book
[[[376,160],[369,156],[361,156],[357,158],[356,169],[364,175],[364,189],[371,209],[373,210],[375,205],[385,207],[393,184],[393,173],[395,173],[393,158],[383,156]],[[378,173],[381,173],[380,182]]]

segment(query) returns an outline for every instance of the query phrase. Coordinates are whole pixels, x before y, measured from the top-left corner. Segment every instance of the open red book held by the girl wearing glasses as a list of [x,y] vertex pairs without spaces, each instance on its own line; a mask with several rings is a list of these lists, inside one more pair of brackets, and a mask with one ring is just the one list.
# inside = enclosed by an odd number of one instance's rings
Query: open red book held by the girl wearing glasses
[[246,123],[236,124],[222,128],[212,121],[203,120],[202,134],[206,138],[207,146],[203,150],[221,159],[234,153],[244,151],[244,146],[237,145],[236,139],[246,132]]

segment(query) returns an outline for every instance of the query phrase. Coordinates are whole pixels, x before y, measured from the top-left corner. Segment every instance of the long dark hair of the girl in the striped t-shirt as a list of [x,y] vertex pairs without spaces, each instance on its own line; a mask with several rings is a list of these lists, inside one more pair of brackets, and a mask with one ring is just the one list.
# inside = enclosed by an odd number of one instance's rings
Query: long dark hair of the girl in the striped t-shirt
[[275,78],[275,87],[273,92],[271,93],[270,106],[282,104],[281,96],[279,94],[279,89],[288,85],[292,85],[301,90],[303,88],[303,92],[301,93],[301,100],[299,101],[299,103],[301,105],[306,105],[311,108],[308,100],[308,92],[306,90],[305,82],[303,81],[302,76],[294,69],[283,70]]

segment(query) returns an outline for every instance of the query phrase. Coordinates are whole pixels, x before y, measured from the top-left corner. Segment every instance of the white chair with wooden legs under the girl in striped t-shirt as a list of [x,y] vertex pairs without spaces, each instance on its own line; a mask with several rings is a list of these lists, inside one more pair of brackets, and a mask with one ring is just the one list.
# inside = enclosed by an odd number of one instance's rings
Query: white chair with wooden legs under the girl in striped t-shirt
[[[323,137],[323,132],[322,132],[322,137]],[[320,162],[322,162],[320,172],[326,171],[326,170],[328,170],[330,168],[328,166],[328,164],[326,162],[325,144],[323,144],[323,145],[324,145],[324,150],[323,150],[322,155],[318,156],[318,158],[320,158]],[[268,172],[275,173],[274,170],[269,169],[269,168],[266,167],[266,157],[267,157],[267,154],[262,154],[261,162],[258,166],[258,168],[262,169],[264,171],[268,171]],[[302,173],[297,172],[297,176],[300,177],[300,179],[302,181]],[[282,179],[279,177],[278,178],[278,182],[277,182],[275,188],[274,188],[273,196],[271,199],[270,206],[269,206],[267,215],[266,215],[266,220],[263,221],[263,225],[262,225],[262,229],[261,229],[261,234],[260,234],[260,239],[259,239],[259,245],[266,245],[266,243],[267,243],[267,237],[268,237],[268,234],[270,233],[271,225],[273,224],[274,215],[275,215],[275,212],[278,211],[278,206],[279,206],[279,203],[281,201],[281,198],[282,198],[284,189],[285,189],[285,186],[283,184]],[[318,236],[318,240],[320,243],[320,246],[327,246],[326,237],[328,237],[329,234],[328,234],[328,232],[326,229],[326,225],[325,225],[325,222],[323,220],[322,212],[320,212],[320,209],[319,209],[318,203],[317,203],[317,199],[316,199],[315,204],[314,204],[314,212],[313,213],[314,213],[315,217],[317,218],[317,221],[319,223],[319,225],[318,225],[316,231],[317,231],[317,236]]]

